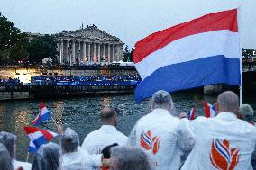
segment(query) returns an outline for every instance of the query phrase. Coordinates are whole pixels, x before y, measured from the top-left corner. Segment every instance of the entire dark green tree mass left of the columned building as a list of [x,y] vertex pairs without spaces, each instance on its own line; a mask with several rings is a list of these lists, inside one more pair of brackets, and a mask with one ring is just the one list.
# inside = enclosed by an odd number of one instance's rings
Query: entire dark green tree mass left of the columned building
[[56,47],[56,42],[49,35],[29,40],[26,33],[21,33],[0,13],[0,64],[16,64],[19,60],[39,64],[42,58],[50,58],[55,63]]

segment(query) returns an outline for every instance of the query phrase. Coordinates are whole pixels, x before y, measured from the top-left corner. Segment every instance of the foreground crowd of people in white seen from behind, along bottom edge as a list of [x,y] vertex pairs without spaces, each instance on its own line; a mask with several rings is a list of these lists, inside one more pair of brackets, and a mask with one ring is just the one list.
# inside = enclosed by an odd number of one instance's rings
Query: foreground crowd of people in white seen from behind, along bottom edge
[[214,118],[176,114],[171,96],[158,91],[151,112],[139,119],[126,137],[116,129],[113,107],[101,111],[101,128],[80,146],[76,131],[59,128],[59,145],[42,145],[31,164],[15,160],[16,136],[0,133],[0,167],[3,170],[252,170],[256,168],[256,130],[253,109],[239,106],[231,91],[219,94]]

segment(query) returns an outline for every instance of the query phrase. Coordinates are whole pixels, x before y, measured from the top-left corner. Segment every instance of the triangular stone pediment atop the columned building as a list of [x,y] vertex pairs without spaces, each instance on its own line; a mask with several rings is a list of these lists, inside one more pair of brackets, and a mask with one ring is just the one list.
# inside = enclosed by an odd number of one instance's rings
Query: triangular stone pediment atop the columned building
[[56,34],[57,37],[73,37],[84,40],[105,40],[105,41],[118,41],[122,40],[117,37],[106,33],[105,31],[99,30],[95,25],[87,26],[85,29],[79,29],[76,31],[62,31]]

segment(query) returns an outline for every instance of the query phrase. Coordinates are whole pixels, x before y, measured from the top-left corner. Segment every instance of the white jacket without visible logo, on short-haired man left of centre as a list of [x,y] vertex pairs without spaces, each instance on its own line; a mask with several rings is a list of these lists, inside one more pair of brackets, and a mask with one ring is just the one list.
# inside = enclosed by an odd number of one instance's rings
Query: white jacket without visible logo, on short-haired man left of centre
[[125,145],[127,137],[114,126],[103,125],[87,135],[81,148],[86,149],[89,154],[99,154],[103,148],[113,143]]

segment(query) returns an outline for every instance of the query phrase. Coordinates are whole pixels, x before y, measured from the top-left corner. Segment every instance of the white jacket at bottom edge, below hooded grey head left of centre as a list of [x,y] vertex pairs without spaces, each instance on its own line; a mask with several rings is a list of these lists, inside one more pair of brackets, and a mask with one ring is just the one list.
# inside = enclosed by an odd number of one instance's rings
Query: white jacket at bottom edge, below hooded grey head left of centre
[[101,166],[101,154],[90,155],[84,149],[78,149],[77,152],[63,154],[63,170],[89,170],[92,167]]

